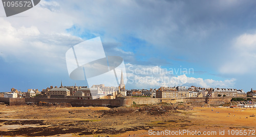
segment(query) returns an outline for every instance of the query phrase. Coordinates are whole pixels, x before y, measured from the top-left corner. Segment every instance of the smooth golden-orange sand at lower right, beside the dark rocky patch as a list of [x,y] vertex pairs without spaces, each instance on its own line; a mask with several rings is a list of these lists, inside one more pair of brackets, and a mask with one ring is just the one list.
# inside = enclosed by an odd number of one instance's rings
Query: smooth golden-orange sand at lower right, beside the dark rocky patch
[[[242,130],[249,133],[248,130],[256,131],[256,109],[253,108],[193,108],[193,110],[182,111],[181,115],[188,116],[194,122],[195,125],[190,125],[187,128],[154,128],[153,131],[178,131],[178,130],[188,130],[188,131],[216,131],[216,135],[200,135],[200,136],[230,136],[236,135],[236,130]],[[247,117],[247,118],[246,118]],[[228,132],[229,130],[229,132]],[[231,131],[234,130],[234,131]],[[247,130],[247,131],[246,131]],[[220,135],[224,131],[224,135]],[[214,132],[212,132],[214,133]],[[211,134],[211,133],[210,133]],[[256,132],[254,133],[256,134]],[[150,135],[148,131],[130,131],[120,136],[173,136],[173,135]],[[184,133],[183,135],[176,136],[191,136]],[[236,136],[255,136],[252,135],[236,135]]]

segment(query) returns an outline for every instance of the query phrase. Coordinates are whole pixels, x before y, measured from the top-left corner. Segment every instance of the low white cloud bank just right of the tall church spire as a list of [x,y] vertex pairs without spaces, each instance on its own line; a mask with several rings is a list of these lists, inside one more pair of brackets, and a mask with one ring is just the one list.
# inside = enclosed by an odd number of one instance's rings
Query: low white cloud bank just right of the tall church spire
[[[136,88],[158,88],[161,86],[198,86],[198,87],[233,87],[235,79],[215,81],[212,79],[201,79],[195,77],[187,77],[186,74],[174,76],[170,69],[161,68],[159,66],[142,66],[126,64],[126,73],[128,84]],[[175,68],[172,68],[175,70]],[[179,69],[179,68],[178,68]],[[180,70],[177,70],[178,72]],[[178,72],[180,73],[180,72]],[[185,72],[188,73],[188,72]]]

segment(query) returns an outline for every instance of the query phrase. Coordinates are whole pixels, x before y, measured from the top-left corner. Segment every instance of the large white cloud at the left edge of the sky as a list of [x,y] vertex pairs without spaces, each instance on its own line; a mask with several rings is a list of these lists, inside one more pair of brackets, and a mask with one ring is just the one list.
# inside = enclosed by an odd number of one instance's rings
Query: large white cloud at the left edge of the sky
[[0,54],[6,62],[18,61],[30,65],[66,65],[65,53],[71,46],[82,42],[81,38],[68,33],[41,33],[37,27],[13,27],[0,18]]

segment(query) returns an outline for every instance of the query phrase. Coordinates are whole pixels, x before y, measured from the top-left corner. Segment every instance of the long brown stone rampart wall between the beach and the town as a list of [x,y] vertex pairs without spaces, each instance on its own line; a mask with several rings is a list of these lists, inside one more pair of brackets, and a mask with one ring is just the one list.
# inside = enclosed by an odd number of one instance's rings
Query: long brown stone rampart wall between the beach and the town
[[[247,99],[245,97],[244,99]],[[208,105],[219,106],[224,103],[230,103],[232,97],[210,97],[208,99]],[[252,99],[255,101],[256,99]],[[205,97],[190,97],[180,99],[160,99],[150,97],[120,97],[115,100],[79,100],[79,99],[41,99],[41,98],[6,98],[0,97],[0,102],[4,102],[9,105],[25,105],[25,104],[37,104],[38,102],[49,103],[70,103],[73,107],[81,106],[105,106],[105,107],[120,107],[120,106],[132,106],[133,104],[157,104],[157,103],[183,103],[190,106],[199,107],[205,104]]]

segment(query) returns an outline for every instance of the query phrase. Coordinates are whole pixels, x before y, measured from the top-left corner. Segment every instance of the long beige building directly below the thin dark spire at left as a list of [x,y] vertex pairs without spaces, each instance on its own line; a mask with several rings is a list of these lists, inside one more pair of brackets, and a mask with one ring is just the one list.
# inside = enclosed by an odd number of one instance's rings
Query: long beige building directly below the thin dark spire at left
[[48,91],[51,98],[66,98],[70,96],[70,91],[67,88],[53,88]]

